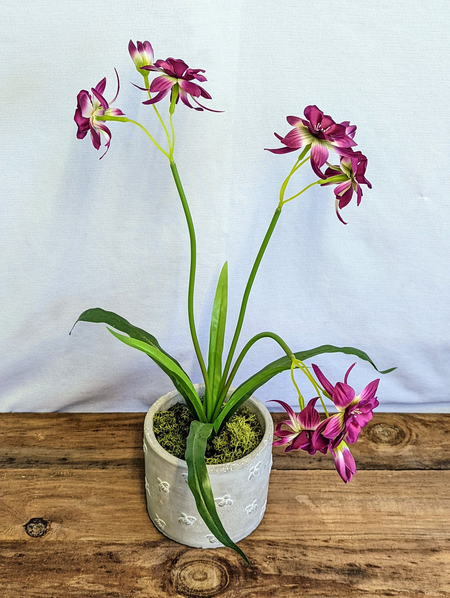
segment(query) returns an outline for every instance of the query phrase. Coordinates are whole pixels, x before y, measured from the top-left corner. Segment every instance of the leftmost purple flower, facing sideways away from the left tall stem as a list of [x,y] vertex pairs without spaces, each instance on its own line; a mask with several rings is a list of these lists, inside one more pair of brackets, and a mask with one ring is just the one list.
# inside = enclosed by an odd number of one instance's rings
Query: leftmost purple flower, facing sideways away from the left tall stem
[[[117,98],[120,89],[119,76],[116,70],[115,74],[117,77],[117,93],[115,94],[114,99],[112,99],[111,102],[109,102],[111,104]],[[97,117],[105,115],[123,116],[124,113],[118,108],[109,108],[108,102],[106,102],[105,98],[103,97],[103,91],[105,91],[105,87],[106,77],[103,78],[102,81],[97,83],[97,85],[91,89],[92,96],[85,89],[82,89],[79,92],[78,96],[76,96],[77,104],[74,115],[74,121],[78,126],[78,131],[76,132],[77,138],[84,139],[87,135],[87,132],[90,131],[91,141],[94,148],[100,148],[100,134],[105,137],[106,154],[106,152],[109,149],[109,144],[111,143],[111,131],[106,126],[105,121],[98,120]],[[100,156],[100,160],[103,158],[105,154]]]

